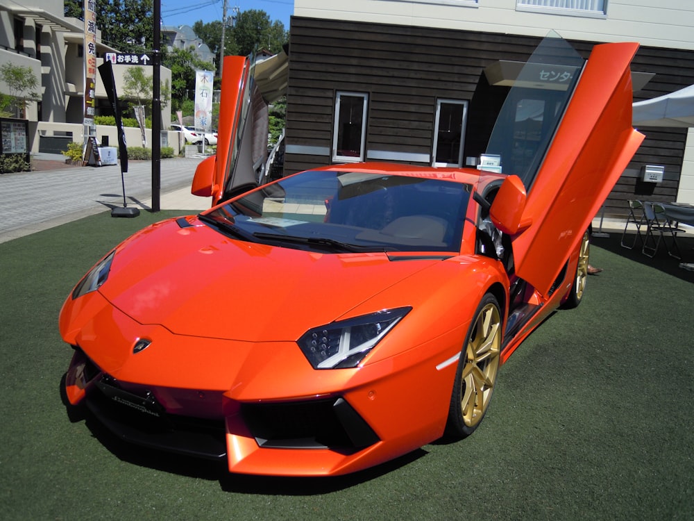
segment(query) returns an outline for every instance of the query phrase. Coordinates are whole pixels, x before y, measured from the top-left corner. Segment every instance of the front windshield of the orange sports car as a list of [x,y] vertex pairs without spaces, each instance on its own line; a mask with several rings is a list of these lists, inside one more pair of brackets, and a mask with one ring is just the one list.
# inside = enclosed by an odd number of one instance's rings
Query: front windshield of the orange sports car
[[332,252],[459,251],[469,185],[311,170],[201,215],[235,238]]

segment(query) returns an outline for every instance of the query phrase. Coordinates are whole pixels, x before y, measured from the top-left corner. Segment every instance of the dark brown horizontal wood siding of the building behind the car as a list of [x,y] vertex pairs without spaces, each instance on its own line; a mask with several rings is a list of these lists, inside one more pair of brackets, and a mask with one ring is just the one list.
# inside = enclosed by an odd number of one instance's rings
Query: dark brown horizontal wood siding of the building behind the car
[[[291,18],[287,145],[332,147],[337,91],[369,94],[366,152],[432,153],[437,99],[467,100],[465,156],[477,156],[505,88],[489,88],[484,67],[497,60],[525,61],[539,38],[425,27]],[[588,57],[592,42],[572,42]],[[634,101],[694,83],[694,51],[641,47],[632,70],[654,72]],[[471,126],[471,122],[474,122]],[[605,213],[625,214],[625,199],[672,201],[677,195],[686,141],[682,129],[640,129],[646,140],[610,194]],[[330,156],[286,154],[285,175],[330,163]],[[419,163],[424,164],[424,163]],[[643,165],[665,165],[666,179],[638,181]]]

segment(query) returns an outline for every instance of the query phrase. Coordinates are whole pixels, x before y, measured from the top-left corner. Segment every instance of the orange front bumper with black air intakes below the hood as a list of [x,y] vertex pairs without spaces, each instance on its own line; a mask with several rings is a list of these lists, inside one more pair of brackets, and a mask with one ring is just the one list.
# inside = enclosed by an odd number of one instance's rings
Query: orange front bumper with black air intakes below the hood
[[[459,349],[460,331],[364,367],[314,370],[295,342],[180,336],[93,297],[94,310],[62,322],[75,347],[67,398],[129,442],[226,458],[235,473],[319,476],[443,433],[456,365],[437,365]],[[143,338],[151,345],[134,352]]]

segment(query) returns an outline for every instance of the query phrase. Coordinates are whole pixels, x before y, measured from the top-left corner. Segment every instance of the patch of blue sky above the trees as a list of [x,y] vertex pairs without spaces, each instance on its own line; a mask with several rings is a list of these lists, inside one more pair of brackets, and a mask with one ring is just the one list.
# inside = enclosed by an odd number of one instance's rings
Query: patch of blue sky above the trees
[[[223,6],[223,0],[161,0],[162,24],[192,26],[198,20],[205,24],[221,20]],[[269,15],[271,22],[279,20],[285,24],[285,31],[289,31],[289,17],[294,13],[294,0],[227,0],[228,16],[232,14],[234,7],[242,11],[263,10]]]

